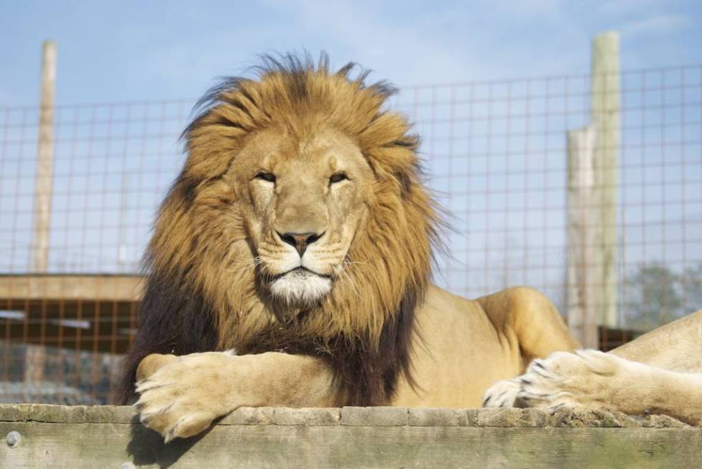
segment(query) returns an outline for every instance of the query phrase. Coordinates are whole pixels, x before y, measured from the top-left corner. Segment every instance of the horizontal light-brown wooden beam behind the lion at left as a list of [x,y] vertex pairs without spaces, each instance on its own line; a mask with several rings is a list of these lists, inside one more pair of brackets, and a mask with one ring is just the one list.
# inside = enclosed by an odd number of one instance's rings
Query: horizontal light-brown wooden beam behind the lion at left
[[138,301],[138,275],[0,275],[0,300]]

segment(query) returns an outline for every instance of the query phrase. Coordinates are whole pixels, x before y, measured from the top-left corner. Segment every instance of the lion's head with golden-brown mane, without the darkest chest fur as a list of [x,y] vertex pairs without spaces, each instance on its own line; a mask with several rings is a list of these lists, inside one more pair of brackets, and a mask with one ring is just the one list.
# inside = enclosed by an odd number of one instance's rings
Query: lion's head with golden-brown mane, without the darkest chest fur
[[218,348],[402,343],[436,239],[418,138],[386,108],[387,84],[291,60],[201,101],[149,244],[150,285],[183,289],[164,308],[210,312]]

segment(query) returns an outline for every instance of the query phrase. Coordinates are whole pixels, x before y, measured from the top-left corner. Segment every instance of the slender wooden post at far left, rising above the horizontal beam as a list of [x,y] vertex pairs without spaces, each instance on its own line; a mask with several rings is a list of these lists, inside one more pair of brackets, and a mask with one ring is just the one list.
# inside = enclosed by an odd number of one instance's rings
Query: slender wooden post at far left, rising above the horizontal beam
[[41,103],[37,140],[37,174],[34,180],[34,238],[32,272],[48,268],[51,186],[53,183],[53,100],[56,79],[56,45],[44,41],[41,47]]

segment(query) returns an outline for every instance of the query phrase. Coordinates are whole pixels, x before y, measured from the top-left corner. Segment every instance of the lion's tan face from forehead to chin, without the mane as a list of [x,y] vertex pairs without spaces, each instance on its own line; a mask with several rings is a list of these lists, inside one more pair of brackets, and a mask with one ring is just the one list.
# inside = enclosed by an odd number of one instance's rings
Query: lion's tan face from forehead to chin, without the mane
[[373,173],[359,147],[331,128],[252,136],[227,178],[241,196],[261,285],[286,305],[322,299],[343,275],[366,213]]

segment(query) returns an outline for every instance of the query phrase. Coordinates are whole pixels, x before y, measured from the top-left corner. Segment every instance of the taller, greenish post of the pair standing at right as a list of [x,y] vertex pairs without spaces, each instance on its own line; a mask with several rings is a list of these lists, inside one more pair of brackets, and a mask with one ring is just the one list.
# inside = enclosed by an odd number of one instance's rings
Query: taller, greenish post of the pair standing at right
[[600,323],[617,326],[617,209],[619,167],[619,34],[609,31],[592,40],[592,124],[595,125],[595,185],[600,217]]

